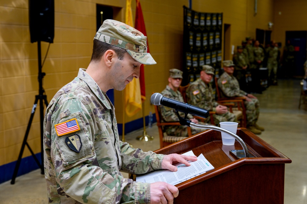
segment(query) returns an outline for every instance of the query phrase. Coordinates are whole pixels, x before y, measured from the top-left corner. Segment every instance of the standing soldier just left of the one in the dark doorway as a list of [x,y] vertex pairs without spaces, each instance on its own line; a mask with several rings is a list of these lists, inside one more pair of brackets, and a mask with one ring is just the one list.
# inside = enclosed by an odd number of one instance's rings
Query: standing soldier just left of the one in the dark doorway
[[275,41],[271,41],[270,47],[267,48],[266,50],[267,57],[268,57],[268,79],[271,79],[271,72],[273,71],[273,85],[277,85],[277,57],[278,57],[278,48],[276,47]]

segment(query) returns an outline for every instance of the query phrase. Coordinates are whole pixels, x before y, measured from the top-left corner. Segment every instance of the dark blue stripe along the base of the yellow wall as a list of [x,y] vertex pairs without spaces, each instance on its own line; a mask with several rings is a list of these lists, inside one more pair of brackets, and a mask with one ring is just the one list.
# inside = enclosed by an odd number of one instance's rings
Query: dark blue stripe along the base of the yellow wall
[[[148,116],[145,116],[145,125],[148,125]],[[152,122],[155,123],[157,120],[155,118],[155,114],[152,114]],[[123,134],[123,124],[117,124],[118,134]],[[130,133],[134,130],[143,128],[143,118],[136,119],[134,121],[130,121],[125,123],[125,134]],[[35,155],[37,158],[41,158],[41,153],[37,153]],[[17,160],[11,162],[9,164],[4,164],[0,166],[0,183],[6,182],[12,179],[13,172],[16,166]],[[22,158],[17,177],[20,175],[27,174],[33,170],[38,169],[37,163],[35,162],[33,156],[28,156]]]

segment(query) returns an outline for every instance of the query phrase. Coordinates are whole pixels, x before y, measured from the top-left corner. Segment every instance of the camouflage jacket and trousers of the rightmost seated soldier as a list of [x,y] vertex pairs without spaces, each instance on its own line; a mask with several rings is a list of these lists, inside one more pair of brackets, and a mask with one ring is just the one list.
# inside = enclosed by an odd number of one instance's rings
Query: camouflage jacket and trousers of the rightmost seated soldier
[[[218,87],[221,89],[222,97],[242,97],[247,93],[240,90],[238,80],[234,76],[230,76],[224,72],[218,79]],[[257,98],[250,98],[252,101],[245,101],[246,107],[246,123],[247,126],[253,126],[259,117],[259,101]]]

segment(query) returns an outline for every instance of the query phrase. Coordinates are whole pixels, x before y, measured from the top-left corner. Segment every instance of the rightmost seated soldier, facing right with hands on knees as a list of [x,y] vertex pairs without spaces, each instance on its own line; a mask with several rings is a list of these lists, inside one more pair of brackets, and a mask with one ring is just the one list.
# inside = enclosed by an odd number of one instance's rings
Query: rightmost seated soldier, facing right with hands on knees
[[221,90],[222,97],[243,97],[246,107],[247,129],[254,134],[261,134],[263,127],[257,125],[259,117],[259,100],[252,94],[240,90],[238,80],[233,76],[234,63],[232,60],[223,61],[224,73],[218,79],[218,87]]

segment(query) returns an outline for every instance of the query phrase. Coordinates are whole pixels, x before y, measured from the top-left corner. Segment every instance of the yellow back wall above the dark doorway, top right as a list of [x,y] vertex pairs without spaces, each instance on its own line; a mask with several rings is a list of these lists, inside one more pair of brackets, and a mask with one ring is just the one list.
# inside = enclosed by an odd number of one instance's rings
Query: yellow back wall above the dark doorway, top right
[[286,31],[307,30],[307,1],[274,0],[274,34],[272,38],[285,46]]

